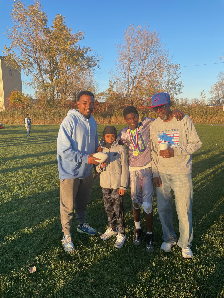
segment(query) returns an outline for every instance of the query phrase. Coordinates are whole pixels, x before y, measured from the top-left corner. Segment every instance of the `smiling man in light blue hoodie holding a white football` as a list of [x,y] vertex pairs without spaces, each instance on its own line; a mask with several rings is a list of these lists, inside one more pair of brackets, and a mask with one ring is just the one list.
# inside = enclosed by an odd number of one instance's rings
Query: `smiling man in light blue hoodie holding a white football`
[[[59,128],[57,153],[60,179],[60,210],[62,245],[66,252],[73,252],[70,230],[73,209],[79,221],[77,232],[89,235],[97,231],[86,224],[86,209],[93,183],[92,165],[98,164],[93,154],[99,146],[94,109],[94,94],[82,91],[77,96],[78,109],[70,110]],[[99,160],[99,159],[98,159]]]

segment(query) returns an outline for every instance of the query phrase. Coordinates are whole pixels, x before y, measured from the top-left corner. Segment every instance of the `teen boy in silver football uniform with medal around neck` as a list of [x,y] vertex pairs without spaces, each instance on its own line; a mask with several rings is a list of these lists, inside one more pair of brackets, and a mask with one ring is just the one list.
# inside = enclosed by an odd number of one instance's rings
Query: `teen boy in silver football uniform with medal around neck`
[[[174,110],[177,121],[182,118],[183,113]],[[135,222],[133,244],[139,246],[142,239],[142,228],[140,225],[140,206],[145,211],[147,234],[145,236],[146,252],[154,250],[153,223],[153,175],[151,166],[151,142],[150,125],[154,118],[144,118],[139,122],[138,111],[134,106],[124,108],[123,116],[128,127],[123,128],[118,136],[121,145],[127,145],[129,184],[131,188],[132,211]]]

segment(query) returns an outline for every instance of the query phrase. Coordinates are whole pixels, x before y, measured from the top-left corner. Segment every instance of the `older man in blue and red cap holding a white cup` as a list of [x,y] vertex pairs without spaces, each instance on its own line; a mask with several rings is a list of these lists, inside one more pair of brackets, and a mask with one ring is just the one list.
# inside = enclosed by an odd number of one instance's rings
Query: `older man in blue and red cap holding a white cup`
[[[157,187],[158,213],[164,240],[161,249],[170,252],[171,247],[177,242],[173,227],[172,192],[174,191],[180,232],[177,245],[182,248],[182,257],[191,258],[193,256],[190,248],[193,240],[192,153],[200,149],[202,143],[190,117],[184,114],[181,120],[176,121],[170,107],[168,93],[160,92],[152,97],[151,108],[159,116],[151,124],[150,138],[153,184]],[[165,143],[168,148],[160,150]]]

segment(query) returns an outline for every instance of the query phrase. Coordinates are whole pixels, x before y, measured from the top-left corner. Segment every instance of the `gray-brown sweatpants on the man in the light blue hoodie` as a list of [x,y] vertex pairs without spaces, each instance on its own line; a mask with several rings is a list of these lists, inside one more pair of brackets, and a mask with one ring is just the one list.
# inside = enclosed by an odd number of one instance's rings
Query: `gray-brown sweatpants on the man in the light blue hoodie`
[[92,174],[85,179],[60,179],[60,210],[64,235],[70,234],[74,208],[79,224],[85,223],[92,184]]

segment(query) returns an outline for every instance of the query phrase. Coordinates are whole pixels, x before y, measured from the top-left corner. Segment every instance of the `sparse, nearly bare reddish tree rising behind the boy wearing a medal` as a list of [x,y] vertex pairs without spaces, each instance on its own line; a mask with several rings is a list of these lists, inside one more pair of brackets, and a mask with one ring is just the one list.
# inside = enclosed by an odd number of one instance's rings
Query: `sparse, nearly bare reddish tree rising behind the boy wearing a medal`
[[116,45],[116,70],[110,71],[113,80],[122,87],[126,105],[140,97],[147,80],[157,77],[168,62],[169,51],[162,44],[158,33],[149,27],[130,25],[125,35]]

